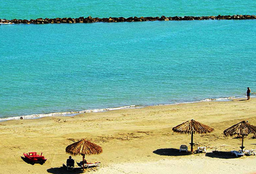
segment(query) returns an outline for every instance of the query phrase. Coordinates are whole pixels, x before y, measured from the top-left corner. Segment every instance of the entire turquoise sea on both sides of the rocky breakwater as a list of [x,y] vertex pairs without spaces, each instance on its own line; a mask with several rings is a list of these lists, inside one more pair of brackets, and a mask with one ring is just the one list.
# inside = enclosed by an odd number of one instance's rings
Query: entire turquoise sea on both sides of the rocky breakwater
[[[0,18],[255,15],[254,1],[4,1]],[[256,20],[0,25],[0,117],[245,97]],[[43,116],[43,115],[40,115]]]

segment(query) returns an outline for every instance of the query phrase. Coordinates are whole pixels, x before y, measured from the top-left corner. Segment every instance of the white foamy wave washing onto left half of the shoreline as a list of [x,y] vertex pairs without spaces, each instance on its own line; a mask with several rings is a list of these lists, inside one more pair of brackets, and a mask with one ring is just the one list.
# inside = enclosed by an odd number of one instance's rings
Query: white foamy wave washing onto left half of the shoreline
[[21,117],[22,119],[39,119],[41,117],[49,117],[49,116],[74,116],[74,115],[83,114],[83,113],[100,113],[100,112],[109,111],[109,110],[135,109],[135,108],[141,108],[141,107],[138,105],[129,105],[129,106],[117,107],[117,108],[87,109],[87,110],[81,110],[81,111],[70,111],[70,112],[49,113],[49,114],[32,114],[32,115],[1,118],[0,121],[20,120]]

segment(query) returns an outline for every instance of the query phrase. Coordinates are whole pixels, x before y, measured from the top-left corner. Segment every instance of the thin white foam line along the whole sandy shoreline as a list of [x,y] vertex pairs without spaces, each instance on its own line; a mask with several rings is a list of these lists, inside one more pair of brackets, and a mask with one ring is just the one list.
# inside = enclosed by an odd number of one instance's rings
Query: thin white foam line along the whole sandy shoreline
[[[254,98],[255,96],[251,96],[251,98]],[[57,116],[75,116],[79,114],[84,113],[102,113],[106,111],[111,110],[123,110],[123,109],[139,109],[139,108],[145,108],[145,107],[154,107],[159,105],[178,105],[178,104],[187,104],[187,103],[199,103],[199,102],[227,102],[232,101],[234,99],[239,99],[244,97],[236,97],[236,96],[230,96],[230,97],[223,97],[223,98],[205,98],[204,100],[200,101],[191,101],[191,102],[178,102],[178,103],[166,103],[166,104],[154,104],[154,105],[126,105],[121,107],[113,107],[113,108],[100,108],[100,109],[86,109],[86,110],[80,110],[80,111],[64,111],[64,112],[56,112],[56,113],[47,113],[47,114],[31,114],[31,115],[20,115],[20,116],[14,116],[14,117],[0,117],[0,122],[9,121],[9,120],[31,120],[31,119],[40,119],[42,117],[57,117]]]

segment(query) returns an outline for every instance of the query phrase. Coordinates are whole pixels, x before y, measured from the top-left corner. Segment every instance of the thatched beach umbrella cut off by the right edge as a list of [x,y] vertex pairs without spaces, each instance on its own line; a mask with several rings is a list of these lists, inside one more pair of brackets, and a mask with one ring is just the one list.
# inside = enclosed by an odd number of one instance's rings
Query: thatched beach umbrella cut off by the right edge
[[233,125],[225,129],[223,133],[225,136],[233,136],[233,135],[242,136],[242,146],[240,148],[241,150],[243,150],[243,148],[245,148],[243,146],[243,138],[248,134],[255,133],[255,132],[256,132],[255,126],[250,125],[248,121],[241,121],[236,125]]

